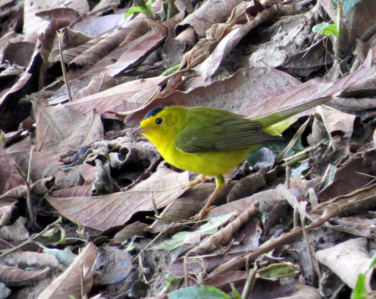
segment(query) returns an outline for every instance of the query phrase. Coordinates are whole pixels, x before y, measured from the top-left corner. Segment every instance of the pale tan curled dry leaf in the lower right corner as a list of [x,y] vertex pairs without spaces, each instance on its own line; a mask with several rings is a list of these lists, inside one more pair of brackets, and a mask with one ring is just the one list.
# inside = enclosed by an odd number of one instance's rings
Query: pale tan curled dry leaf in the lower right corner
[[[340,243],[334,247],[316,252],[317,260],[330,268],[350,288],[354,289],[358,275],[367,267],[371,258],[367,252],[367,239],[358,238]],[[370,279],[366,280],[367,291],[371,291]]]

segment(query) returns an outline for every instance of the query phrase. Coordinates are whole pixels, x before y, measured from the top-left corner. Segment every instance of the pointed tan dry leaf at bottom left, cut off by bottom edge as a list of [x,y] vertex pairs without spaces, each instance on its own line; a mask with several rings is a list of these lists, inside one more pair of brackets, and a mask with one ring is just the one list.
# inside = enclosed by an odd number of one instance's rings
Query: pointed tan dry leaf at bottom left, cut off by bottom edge
[[38,299],[66,299],[73,296],[81,299],[93,285],[95,246],[89,243],[73,263],[40,293]]

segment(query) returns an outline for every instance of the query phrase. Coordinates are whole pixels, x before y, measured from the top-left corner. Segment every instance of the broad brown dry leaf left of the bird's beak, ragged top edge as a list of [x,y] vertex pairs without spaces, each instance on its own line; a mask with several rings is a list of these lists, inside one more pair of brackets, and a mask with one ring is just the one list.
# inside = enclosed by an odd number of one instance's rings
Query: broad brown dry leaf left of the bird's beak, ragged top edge
[[42,98],[33,102],[33,113],[37,124],[36,151],[60,155],[103,137],[98,113],[84,117],[63,106],[48,107]]

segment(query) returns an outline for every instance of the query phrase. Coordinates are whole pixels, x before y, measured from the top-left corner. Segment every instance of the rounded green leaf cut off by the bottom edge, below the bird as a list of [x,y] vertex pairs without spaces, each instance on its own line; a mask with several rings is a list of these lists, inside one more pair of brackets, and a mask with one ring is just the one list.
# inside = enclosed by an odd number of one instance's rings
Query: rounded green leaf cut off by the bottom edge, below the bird
[[189,287],[168,295],[169,299],[233,299],[226,293],[210,286]]

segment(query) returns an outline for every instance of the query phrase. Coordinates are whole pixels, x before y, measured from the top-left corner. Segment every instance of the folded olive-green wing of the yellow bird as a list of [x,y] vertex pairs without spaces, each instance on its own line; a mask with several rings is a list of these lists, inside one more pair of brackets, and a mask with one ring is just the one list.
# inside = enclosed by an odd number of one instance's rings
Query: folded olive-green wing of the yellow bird
[[238,115],[211,124],[202,123],[205,125],[199,128],[183,129],[176,137],[175,146],[188,153],[198,153],[258,146],[281,139],[262,132],[260,122]]

